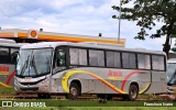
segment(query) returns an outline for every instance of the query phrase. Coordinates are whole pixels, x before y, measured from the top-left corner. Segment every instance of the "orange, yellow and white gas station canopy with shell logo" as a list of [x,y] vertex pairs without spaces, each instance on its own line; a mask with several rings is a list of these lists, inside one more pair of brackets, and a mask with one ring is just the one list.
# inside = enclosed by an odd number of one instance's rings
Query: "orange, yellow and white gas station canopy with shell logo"
[[97,42],[106,44],[120,44],[125,46],[125,38],[116,37],[99,37],[90,35],[78,35],[78,34],[66,34],[66,33],[54,33],[54,32],[43,32],[37,30],[0,30],[1,38],[11,38],[15,42],[26,42],[26,43],[36,43],[41,41],[59,41],[59,42]]

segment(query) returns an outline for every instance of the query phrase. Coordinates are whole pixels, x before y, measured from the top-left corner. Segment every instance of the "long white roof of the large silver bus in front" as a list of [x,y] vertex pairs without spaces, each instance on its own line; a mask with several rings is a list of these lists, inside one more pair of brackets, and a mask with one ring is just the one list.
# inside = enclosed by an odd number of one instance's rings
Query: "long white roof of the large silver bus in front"
[[21,48],[44,48],[44,47],[57,47],[62,45],[68,45],[68,46],[77,46],[77,47],[89,47],[89,48],[105,48],[105,50],[113,50],[113,51],[123,51],[123,52],[136,52],[136,53],[153,53],[153,54],[163,54],[164,52],[160,51],[150,51],[150,50],[138,50],[138,48],[124,48],[122,46],[108,46],[108,45],[98,45],[98,44],[87,44],[87,43],[70,43],[70,42],[43,42],[43,43],[33,43],[23,45]]

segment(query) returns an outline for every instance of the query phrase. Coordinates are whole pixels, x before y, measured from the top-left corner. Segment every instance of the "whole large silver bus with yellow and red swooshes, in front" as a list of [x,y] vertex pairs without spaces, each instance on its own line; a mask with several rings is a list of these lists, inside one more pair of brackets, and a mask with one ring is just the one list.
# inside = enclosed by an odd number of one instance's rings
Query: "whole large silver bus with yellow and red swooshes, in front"
[[139,94],[166,92],[166,55],[94,43],[46,42],[20,48],[14,89],[77,99],[97,95],[135,100]]

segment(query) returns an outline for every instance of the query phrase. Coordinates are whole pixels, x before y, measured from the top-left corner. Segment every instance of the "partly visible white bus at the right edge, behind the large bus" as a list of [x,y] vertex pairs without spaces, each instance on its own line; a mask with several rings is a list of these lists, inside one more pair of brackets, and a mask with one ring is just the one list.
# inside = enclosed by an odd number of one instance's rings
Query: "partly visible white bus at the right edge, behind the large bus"
[[169,94],[176,89],[176,58],[167,61],[167,89]]

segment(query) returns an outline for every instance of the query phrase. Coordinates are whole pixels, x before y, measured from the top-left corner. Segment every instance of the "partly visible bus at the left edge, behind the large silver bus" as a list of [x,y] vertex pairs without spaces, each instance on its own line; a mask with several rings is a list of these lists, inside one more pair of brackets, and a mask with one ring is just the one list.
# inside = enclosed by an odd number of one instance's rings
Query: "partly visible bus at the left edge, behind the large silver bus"
[[0,86],[14,86],[13,76],[15,72],[15,63],[18,52],[22,44],[15,43],[13,40],[0,38]]

